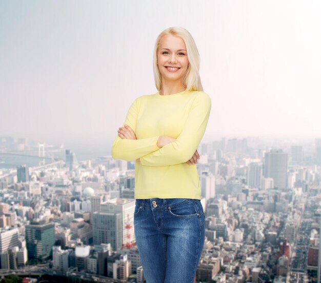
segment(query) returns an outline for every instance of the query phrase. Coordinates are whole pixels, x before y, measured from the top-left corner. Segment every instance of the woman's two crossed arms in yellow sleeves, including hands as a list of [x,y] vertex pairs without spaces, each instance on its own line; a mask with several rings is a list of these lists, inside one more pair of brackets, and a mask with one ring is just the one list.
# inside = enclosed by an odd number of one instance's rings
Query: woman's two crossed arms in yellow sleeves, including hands
[[206,93],[195,94],[184,128],[176,139],[169,136],[137,139],[138,105],[139,99],[136,99],[129,108],[125,123],[118,129],[112,146],[114,159],[137,160],[143,166],[197,163],[197,147],[205,133],[211,110],[211,99]]

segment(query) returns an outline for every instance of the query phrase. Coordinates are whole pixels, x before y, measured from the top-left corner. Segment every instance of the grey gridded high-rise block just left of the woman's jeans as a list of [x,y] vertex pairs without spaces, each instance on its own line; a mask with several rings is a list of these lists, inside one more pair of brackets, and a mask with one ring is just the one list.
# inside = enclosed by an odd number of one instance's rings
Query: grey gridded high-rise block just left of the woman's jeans
[[93,243],[94,245],[109,244],[116,251],[122,247],[122,214],[94,212]]

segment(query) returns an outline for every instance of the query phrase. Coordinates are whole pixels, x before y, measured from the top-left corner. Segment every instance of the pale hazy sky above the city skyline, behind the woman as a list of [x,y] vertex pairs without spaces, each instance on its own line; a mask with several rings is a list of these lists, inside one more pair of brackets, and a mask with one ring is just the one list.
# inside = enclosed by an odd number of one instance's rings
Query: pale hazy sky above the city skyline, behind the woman
[[320,14],[318,0],[1,0],[0,136],[110,145],[156,92],[157,35],[182,26],[212,99],[205,140],[320,137]]

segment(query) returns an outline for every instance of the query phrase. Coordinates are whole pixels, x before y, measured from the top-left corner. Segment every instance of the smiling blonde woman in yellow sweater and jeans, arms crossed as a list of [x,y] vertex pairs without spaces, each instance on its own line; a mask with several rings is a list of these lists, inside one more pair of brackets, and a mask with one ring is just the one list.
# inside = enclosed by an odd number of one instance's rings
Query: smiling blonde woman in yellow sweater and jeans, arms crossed
[[191,34],[171,27],[156,39],[157,93],[135,99],[112,157],[136,160],[134,231],[147,283],[192,283],[205,239],[197,147],[211,111]]

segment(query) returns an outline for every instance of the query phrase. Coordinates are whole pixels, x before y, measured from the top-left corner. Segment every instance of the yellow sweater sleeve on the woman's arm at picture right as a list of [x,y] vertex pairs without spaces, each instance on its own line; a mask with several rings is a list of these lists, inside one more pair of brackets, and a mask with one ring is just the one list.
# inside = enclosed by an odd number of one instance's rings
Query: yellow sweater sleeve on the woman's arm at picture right
[[171,142],[141,158],[144,166],[167,166],[188,161],[202,140],[211,111],[211,98],[200,92],[196,95],[180,135]]

